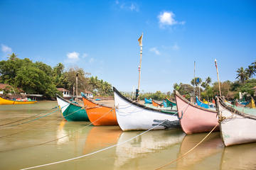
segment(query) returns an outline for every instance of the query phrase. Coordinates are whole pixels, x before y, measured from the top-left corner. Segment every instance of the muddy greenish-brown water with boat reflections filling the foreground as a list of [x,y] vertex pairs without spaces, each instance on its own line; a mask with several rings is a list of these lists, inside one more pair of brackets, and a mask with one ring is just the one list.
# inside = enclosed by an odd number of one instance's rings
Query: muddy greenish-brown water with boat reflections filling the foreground
[[[0,106],[0,125],[38,113],[50,113],[48,110],[55,106],[56,102]],[[35,118],[43,115],[46,114]],[[89,123],[66,122],[59,111],[24,123],[28,120],[0,126],[1,170],[58,162],[117,144],[88,157],[38,169],[157,169],[187,152],[207,135],[184,135],[181,129],[152,130],[125,142],[143,131],[122,132],[119,126],[85,127]],[[18,123],[24,124],[16,125]],[[68,137],[63,137],[65,135]],[[40,145],[51,140],[55,141]],[[256,169],[256,143],[225,148],[220,133],[214,132],[193,152],[163,169]]]

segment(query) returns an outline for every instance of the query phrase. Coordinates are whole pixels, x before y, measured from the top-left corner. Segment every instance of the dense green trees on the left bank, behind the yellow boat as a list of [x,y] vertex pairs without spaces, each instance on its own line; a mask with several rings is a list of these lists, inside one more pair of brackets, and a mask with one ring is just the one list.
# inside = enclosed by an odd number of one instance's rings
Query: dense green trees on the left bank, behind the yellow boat
[[[75,77],[78,74],[78,93],[91,91],[94,95],[109,96],[112,86],[107,81],[90,77],[82,68],[73,67],[65,70],[62,63],[50,67],[43,62],[32,62],[28,58],[19,59],[16,54],[9,55],[8,60],[0,62],[0,83],[9,84],[13,89],[7,93],[43,94],[45,98],[54,98],[60,94],[57,88],[68,89],[73,93]],[[61,94],[60,94],[61,95]]]

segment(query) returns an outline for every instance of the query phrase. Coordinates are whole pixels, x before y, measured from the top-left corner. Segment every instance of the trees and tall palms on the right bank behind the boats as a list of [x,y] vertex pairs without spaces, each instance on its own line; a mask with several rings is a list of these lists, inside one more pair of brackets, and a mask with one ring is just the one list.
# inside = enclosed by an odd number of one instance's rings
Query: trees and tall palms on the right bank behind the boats
[[[245,100],[250,99],[250,97],[255,97],[255,90],[253,87],[256,86],[256,79],[253,77],[256,74],[256,61],[252,62],[246,69],[240,67],[237,69],[238,81],[223,81],[220,82],[220,89],[222,96],[225,96],[228,100],[234,100],[239,98],[239,93],[242,94],[242,97]],[[195,82],[195,83],[194,83]],[[178,91],[186,98],[190,99],[193,96],[193,85],[195,88],[195,95],[200,96],[201,99],[211,100],[215,96],[219,96],[218,82],[212,84],[210,77],[207,77],[205,81],[202,81],[200,77],[196,77],[191,80],[190,84],[174,84],[174,89]]]

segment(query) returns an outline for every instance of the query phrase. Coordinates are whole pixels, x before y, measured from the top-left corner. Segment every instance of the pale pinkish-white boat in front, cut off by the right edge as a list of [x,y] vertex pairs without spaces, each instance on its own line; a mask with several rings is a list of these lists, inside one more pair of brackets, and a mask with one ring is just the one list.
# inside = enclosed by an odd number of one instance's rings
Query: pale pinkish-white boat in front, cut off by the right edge
[[256,110],[253,108],[233,108],[228,106],[220,97],[216,97],[216,100],[224,145],[228,147],[256,142]]

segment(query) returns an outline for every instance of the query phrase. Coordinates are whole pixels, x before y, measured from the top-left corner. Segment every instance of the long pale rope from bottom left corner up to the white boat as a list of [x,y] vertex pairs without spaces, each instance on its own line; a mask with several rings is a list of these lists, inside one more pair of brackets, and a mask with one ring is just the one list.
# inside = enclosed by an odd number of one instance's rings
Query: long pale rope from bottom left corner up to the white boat
[[[166,120],[164,120],[162,123],[164,123],[165,121],[166,121]],[[159,123],[159,125],[161,125],[161,123]],[[156,126],[154,126],[153,128],[150,128],[149,130],[153,130],[154,128],[158,127],[159,125],[156,125]],[[116,145],[112,145],[112,146],[110,146],[110,147],[105,147],[105,148],[103,148],[103,149],[97,150],[97,151],[92,152],[92,153],[90,153],[90,154],[84,154],[84,155],[82,155],[82,156],[80,156],[80,157],[74,157],[74,158],[70,158],[70,159],[65,159],[65,160],[62,160],[62,161],[59,161],[59,162],[52,162],[52,163],[49,163],[49,164],[42,164],[42,165],[38,165],[38,166],[31,166],[31,167],[28,167],[28,168],[25,168],[25,169],[21,169],[21,170],[35,169],[35,168],[39,168],[39,167],[43,167],[43,166],[49,166],[49,165],[53,165],[53,164],[60,164],[60,163],[63,163],[63,162],[69,162],[69,161],[73,161],[73,160],[75,160],[75,159],[80,159],[80,158],[82,158],[82,157],[87,157],[87,156],[90,156],[90,155],[92,155],[92,154],[96,154],[96,153],[98,153],[98,152],[105,151],[105,150],[110,149],[110,148],[112,148],[112,147],[117,147],[118,145],[122,145],[122,144],[124,144],[125,142],[129,142],[130,140],[133,140],[134,138],[139,137],[140,135],[143,135],[143,134],[146,133],[146,132],[149,132],[149,130],[146,130],[146,131],[140,133],[139,135],[136,135],[136,136],[130,138],[129,140],[125,140],[125,141],[123,141],[123,142],[117,143]]]

